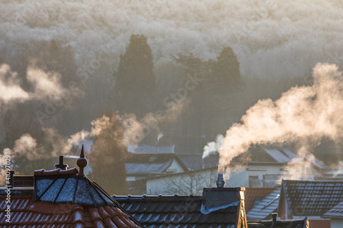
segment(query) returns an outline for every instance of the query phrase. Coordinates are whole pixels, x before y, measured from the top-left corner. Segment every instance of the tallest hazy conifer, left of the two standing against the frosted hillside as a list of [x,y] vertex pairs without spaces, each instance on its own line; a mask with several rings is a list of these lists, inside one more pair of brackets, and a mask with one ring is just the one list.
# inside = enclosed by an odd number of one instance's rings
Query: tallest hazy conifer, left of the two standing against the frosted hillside
[[138,118],[156,106],[156,80],[152,73],[152,51],[143,35],[132,35],[126,53],[120,55],[115,73],[115,103],[121,113]]

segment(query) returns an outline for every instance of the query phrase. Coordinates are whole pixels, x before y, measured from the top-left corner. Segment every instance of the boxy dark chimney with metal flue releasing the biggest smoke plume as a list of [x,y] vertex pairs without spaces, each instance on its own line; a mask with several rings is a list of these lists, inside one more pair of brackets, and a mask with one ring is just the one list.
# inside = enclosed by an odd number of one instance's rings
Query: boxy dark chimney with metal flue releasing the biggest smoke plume
[[233,205],[244,203],[246,188],[224,188],[224,178],[218,175],[217,188],[204,188],[202,192],[202,214],[209,214]]

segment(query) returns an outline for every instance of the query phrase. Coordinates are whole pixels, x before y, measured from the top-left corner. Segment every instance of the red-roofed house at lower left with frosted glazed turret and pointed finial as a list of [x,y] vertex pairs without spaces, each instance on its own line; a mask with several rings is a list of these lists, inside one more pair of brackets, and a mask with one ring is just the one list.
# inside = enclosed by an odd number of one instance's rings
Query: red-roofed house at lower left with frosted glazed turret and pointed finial
[[0,227],[142,227],[84,175],[83,149],[77,164],[34,171],[33,187],[1,188]]

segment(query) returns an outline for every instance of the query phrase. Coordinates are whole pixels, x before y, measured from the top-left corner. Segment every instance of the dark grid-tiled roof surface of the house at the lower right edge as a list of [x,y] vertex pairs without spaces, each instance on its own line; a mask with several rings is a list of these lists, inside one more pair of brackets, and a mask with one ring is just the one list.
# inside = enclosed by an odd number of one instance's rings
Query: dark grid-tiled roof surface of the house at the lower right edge
[[[290,214],[322,216],[343,201],[343,181],[283,180],[281,199],[283,197],[289,205]],[[279,210],[281,206],[279,205]]]

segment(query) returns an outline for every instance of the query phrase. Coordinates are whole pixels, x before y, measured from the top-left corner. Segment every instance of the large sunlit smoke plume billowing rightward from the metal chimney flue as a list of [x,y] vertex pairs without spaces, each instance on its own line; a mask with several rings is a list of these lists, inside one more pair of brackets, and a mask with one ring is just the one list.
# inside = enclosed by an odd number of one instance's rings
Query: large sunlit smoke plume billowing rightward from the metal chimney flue
[[250,107],[241,123],[230,127],[220,147],[220,167],[251,144],[286,141],[318,144],[343,136],[343,78],[334,64],[318,63],[313,86],[296,86],[276,101],[264,99]]

